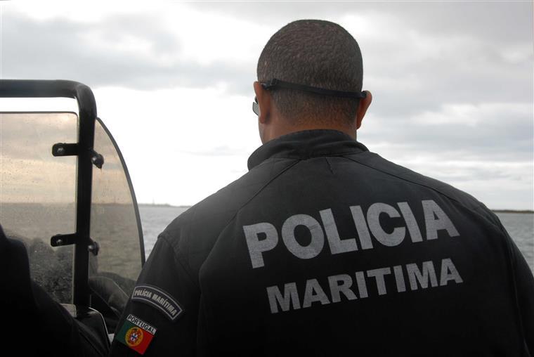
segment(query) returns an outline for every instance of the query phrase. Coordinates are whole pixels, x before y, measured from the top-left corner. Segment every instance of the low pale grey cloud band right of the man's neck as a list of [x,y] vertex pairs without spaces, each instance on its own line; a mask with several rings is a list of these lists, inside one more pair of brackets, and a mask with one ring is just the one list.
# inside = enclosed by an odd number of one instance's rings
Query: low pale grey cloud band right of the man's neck
[[[373,120],[376,118],[367,118]],[[365,120],[358,139],[370,150],[384,151],[391,160],[402,157],[436,157],[438,160],[483,162],[533,162],[533,124],[523,122],[507,125],[502,122],[481,122],[476,126],[460,124],[422,125],[409,119],[377,119],[372,129]],[[367,123],[367,126],[371,124]],[[377,148],[375,148],[375,145]]]

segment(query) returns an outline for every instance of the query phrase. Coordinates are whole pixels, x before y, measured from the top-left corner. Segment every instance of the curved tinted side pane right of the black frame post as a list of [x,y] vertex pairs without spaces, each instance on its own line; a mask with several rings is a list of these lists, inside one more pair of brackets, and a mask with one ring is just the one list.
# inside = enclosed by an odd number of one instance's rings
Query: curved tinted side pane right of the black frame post
[[97,256],[89,255],[90,285],[110,278],[129,295],[141,272],[137,215],[119,154],[98,121],[94,150],[103,155],[104,164],[102,169],[93,167],[91,238],[100,250]]

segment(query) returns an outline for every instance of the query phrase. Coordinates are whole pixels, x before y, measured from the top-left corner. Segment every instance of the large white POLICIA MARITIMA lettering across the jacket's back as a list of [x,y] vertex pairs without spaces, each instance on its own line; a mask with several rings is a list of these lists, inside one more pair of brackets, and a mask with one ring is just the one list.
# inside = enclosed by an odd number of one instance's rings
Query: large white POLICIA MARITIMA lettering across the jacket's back
[[[440,230],[447,231],[450,237],[457,237],[460,235],[447,214],[443,212],[443,209],[441,209],[434,200],[423,200],[421,203],[424,212],[426,240],[437,239],[438,231]],[[323,209],[319,212],[322,224],[312,216],[295,214],[286,219],[282,225],[282,241],[284,242],[285,247],[287,247],[287,250],[299,259],[312,259],[317,257],[325,245],[325,233],[332,254],[356,251],[358,250],[358,243],[360,249],[372,249],[373,241],[371,240],[371,237],[375,238],[377,242],[386,247],[395,247],[403,242],[407,229],[413,243],[422,242],[422,233],[419,230],[419,225],[415,220],[415,215],[413,214],[412,209],[410,209],[408,202],[398,202],[397,206],[400,213],[395,207],[386,203],[374,203],[367,209],[367,220],[365,220],[363,209],[360,206],[349,207],[356,226],[358,238],[346,239],[341,239],[339,237],[332,209]],[[379,216],[381,214],[386,214],[392,218],[402,216],[405,221],[405,226],[396,227],[391,233],[388,233],[384,231],[384,228],[380,225]],[[297,226],[305,226],[309,230],[311,241],[308,245],[301,245],[295,238],[294,233]],[[252,268],[263,267],[265,265],[263,261],[263,252],[268,252],[278,245],[279,235],[277,229],[271,223],[262,222],[250,226],[243,226],[243,231],[245,232]],[[263,239],[260,240],[261,236],[264,238],[262,237]],[[357,271],[354,273],[354,276],[356,278],[356,285],[358,286],[360,298],[368,297],[365,275],[367,275],[368,279],[375,279],[379,295],[387,293],[384,276],[390,275],[391,273],[393,273],[395,277],[397,292],[406,291],[403,270],[405,270],[408,275],[411,290],[417,290],[418,286],[422,289],[429,287],[429,285],[431,287],[436,287],[438,285],[444,286],[451,280],[455,283],[462,283],[460,273],[458,273],[450,258],[442,259],[441,264],[438,266],[441,266],[439,283],[438,275],[436,275],[436,269],[434,268],[434,263],[432,261],[424,261],[421,269],[419,269],[417,264],[406,264],[404,269],[403,266],[377,268],[367,270],[366,272]],[[331,299],[327,297],[316,279],[306,280],[303,299],[299,299],[296,283],[286,283],[282,288],[282,292],[280,292],[279,287],[276,285],[267,287],[271,313],[278,312],[278,305],[280,305],[282,311],[288,311],[290,305],[293,306],[293,309],[300,309],[301,307],[306,308],[311,306],[315,301],[318,301],[321,304],[339,302],[341,301],[341,294],[344,294],[346,299],[349,300],[357,298],[356,294],[350,289],[353,285],[351,275],[332,275],[329,276],[327,280]]]

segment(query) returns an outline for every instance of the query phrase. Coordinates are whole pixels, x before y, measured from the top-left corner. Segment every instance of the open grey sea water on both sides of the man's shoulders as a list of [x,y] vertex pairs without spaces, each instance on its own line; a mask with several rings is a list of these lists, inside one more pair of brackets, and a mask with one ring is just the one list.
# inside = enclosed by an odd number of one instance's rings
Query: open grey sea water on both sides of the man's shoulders
[[[152,247],[157,240],[157,235],[173,219],[185,212],[186,209],[187,207],[139,206],[141,222],[143,223],[146,257],[152,251]],[[534,271],[534,214],[497,213],[497,216],[517,247],[519,247],[521,253],[523,253],[530,269]]]

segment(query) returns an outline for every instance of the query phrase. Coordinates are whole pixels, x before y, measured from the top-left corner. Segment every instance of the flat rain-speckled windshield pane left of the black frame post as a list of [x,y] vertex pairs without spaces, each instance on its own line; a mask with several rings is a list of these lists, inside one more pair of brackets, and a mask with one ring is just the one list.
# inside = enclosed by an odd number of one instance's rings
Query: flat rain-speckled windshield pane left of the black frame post
[[54,157],[55,143],[77,142],[72,112],[0,113],[0,223],[22,240],[30,274],[54,299],[72,300],[73,247],[50,238],[76,230],[77,157]]

